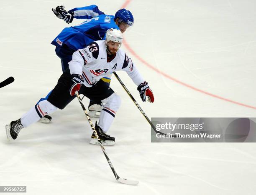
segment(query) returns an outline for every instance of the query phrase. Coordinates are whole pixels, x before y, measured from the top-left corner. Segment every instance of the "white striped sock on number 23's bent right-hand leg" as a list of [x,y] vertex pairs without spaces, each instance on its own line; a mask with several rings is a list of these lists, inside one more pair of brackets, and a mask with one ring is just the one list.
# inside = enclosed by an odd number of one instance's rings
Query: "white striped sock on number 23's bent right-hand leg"
[[100,113],[99,126],[104,132],[107,132],[114,120],[115,113],[121,105],[121,99],[116,94],[113,93],[108,98],[102,100],[106,103]]

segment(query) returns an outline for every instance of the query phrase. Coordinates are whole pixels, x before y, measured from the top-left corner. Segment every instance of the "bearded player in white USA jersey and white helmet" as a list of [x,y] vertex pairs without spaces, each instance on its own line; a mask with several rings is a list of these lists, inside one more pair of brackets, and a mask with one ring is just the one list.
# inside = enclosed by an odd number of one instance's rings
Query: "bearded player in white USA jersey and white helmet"
[[[84,49],[74,52],[69,68],[61,75],[46,100],[38,102],[20,119],[5,126],[8,140],[15,140],[22,128],[28,127],[44,115],[51,114],[58,108],[64,109],[78,91],[97,103],[105,103],[99,123],[95,124],[95,130],[103,145],[114,145],[115,138],[106,132],[114,120],[121,100],[101,78],[111,72],[123,70],[138,86],[137,90],[143,102],[146,97],[149,102],[154,102],[154,95],[148,83],[140,75],[131,58],[119,49],[122,40],[120,30],[110,29],[106,33],[106,40],[92,42]],[[94,134],[90,143],[97,144]]]

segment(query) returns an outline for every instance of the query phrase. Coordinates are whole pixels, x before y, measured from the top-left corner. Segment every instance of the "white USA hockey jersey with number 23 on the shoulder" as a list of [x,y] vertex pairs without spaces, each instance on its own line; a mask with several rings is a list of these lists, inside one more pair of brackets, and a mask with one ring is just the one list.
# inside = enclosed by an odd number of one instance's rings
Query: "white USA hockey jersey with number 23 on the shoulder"
[[83,84],[86,87],[92,87],[102,77],[119,70],[127,72],[137,86],[144,82],[133,61],[123,50],[119,49],[113,60],[107,62],[105,40],[91,42],[84,49],[74,52],[69,69],[70,74],[84,77]]

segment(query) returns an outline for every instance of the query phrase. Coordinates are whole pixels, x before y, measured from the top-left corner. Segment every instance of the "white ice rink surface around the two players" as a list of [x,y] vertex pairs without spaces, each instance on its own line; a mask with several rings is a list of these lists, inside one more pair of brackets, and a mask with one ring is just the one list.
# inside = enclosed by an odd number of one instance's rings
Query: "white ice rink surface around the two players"
[[70,25],[51,8],[92,4],[109,15],[123,5],[133,13],[122,48],[155,102],[143,103],[128,75],[118,75],[148,117],[256,117],[255,0],[2,0],[0,80],[15,82],[0,89],[0,186],[27,186],[29,195],[254,195],[255,143],[151,143],[150,126],[114,77],[122,105],[108,132],[115,146],[106,151],[118,175],[137,186],[116,182],[100,147],[89,144],[77,100],[8,143],[5,124],[61,75],[50,43]]

